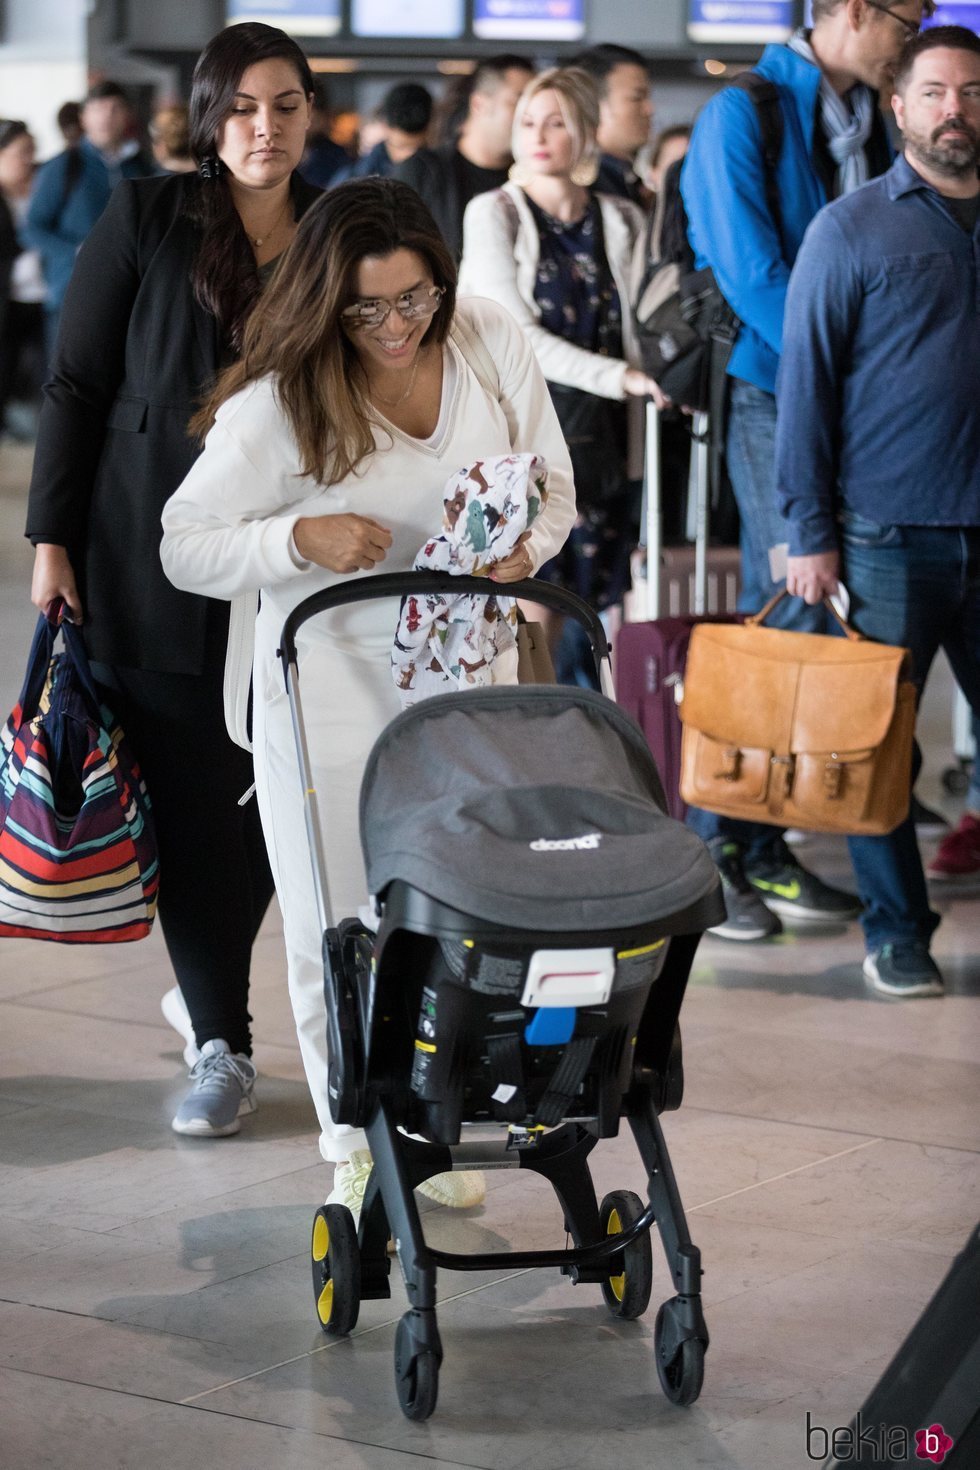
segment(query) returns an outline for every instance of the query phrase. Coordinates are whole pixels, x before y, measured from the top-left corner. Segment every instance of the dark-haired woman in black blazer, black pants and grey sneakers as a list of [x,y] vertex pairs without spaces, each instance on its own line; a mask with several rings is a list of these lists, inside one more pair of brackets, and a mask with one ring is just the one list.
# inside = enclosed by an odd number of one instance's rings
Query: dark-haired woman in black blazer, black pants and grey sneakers
[[194,1030],[173,1127],[197,1136],[254,1111],[248,966],[272,875],[256,803],[238,804],[251,757],[225,729],[228,604],[167,582],[160,512],[198,454],[188,419],[320,194],[294,172],[311,93],[284,31],[209,43],[191,87],[197,175],[120,182],[79,250],[31,481],[32,601],[63,597],[84,619],[150,791],[160,923]]

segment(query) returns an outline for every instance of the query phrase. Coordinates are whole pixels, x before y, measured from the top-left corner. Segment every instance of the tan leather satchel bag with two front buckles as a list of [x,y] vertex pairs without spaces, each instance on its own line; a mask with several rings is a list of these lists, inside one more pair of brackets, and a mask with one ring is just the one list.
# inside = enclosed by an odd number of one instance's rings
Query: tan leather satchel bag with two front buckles
[[729,817],[882,835],[908,814],[915,686],[907,648],[699,623],[680,700],[680,795]]

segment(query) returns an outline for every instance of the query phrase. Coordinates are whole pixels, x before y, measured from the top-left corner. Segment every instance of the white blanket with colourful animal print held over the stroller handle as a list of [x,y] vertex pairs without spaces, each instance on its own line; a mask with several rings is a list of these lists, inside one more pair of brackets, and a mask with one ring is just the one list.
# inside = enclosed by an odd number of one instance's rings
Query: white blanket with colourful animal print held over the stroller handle
[[[548,498],[538,454],[476,460],[445,485],[442,532],[420,548],[417,572],[483,576],[517,547]],[[403,597],[391,675],[403,706],[492,682],[494,659],[517,642],[513,597]]]

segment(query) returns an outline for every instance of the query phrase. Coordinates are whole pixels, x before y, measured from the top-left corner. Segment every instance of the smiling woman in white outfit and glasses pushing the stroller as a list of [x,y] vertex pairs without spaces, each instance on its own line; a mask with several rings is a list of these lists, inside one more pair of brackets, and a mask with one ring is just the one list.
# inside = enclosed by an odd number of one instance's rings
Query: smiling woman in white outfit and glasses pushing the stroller
[[[572,466],[533,353],[491,301],[457,303],[455,268],[432,215],[394,179],[339,185],[304,216],[288,269],[248,322],[241,362],[195,420],[204,453],[163,514],[163,564],[185,589],[260,591],[254,760],[284,914],[289,994],[316,1102],[331,1200],[360,1210],[370,1155],[328,1102],[322,935],[304,801],[276,648],[311,592],[407,570],[439,532],[460,466],[533,451],[545,509],[494,569],[505,585],[560,548],[573,520]],[[401,704],[391,675],[398,603],[351,604],[306,625],[303,707],[323,801],[331,907],[367,900],[357,800],[367,754]],[[425,1186],[444,1204],[482,1198],[482,1177]]]

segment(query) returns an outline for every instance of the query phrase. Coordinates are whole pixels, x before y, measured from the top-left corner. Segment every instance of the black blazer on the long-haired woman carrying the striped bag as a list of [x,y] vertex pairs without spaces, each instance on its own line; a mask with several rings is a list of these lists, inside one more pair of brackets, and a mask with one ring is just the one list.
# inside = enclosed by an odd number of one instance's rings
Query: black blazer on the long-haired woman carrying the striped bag
[[[160,514],[200,453],[187,423],[222,365],[194,300],[195,175],[123,179],[65,297],[38,426],[26,535],[68,547],[101,663],[200,673],[210,601],[160,564]],[[294,173],[297,215],[320,197]]]

